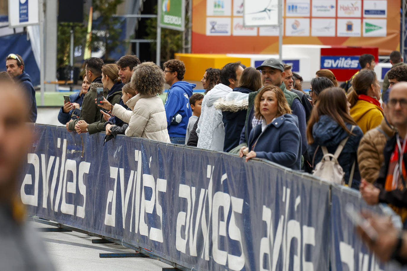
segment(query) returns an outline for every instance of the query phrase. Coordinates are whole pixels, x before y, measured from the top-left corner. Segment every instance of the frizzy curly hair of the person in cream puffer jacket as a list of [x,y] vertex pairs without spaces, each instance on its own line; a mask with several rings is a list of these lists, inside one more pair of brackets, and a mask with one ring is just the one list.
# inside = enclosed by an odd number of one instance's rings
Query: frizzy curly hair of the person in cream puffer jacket
[[164,74],[153,62],[143,62],[134,67],[131,76],[131,88],[141,95],[162,94],[164,91]]

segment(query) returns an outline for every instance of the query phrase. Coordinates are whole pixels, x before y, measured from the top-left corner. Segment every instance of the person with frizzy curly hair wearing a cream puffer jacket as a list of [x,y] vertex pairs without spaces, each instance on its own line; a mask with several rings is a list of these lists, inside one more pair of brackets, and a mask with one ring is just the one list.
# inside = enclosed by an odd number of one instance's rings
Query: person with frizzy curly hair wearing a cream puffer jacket
[[98,105],[129,124],[125,131],[128,137],[143,137],[170,143],[164,104],[157,94],[164,91],[164,74],[153,62],[144,62],[134,68],[130,84],[137,95],[130,98],[126,110],[120,104],[112,105],[106,99]]

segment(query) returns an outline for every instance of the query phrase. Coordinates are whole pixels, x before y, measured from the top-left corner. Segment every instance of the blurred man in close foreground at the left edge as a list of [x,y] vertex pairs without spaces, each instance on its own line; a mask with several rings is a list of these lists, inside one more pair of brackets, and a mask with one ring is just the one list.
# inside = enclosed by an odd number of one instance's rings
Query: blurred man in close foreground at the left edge
[[0,263],[2,270],[53,270],[42,241],[25,223],[24,206],[17,198],[18,178],[32,144],[30,106],[24,91],[0,80],[7,102],[0,106]]

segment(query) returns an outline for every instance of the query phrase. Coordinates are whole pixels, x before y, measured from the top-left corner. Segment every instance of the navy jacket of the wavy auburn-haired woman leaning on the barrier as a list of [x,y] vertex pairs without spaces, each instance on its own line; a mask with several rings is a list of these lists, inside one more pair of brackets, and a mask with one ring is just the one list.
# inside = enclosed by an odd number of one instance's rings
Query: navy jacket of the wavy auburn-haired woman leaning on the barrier
[[271,121],[263,132],[261,129],[262,124],[259,124],[250,132],[249,151],[256,152],[256,158],[300,170],[301,135],[297,116],[284,114]]

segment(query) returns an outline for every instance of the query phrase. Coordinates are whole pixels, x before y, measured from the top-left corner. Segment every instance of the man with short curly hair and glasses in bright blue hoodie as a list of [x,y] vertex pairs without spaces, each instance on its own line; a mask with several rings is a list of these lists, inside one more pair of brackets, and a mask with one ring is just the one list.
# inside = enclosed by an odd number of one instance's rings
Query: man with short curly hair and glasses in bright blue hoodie
[[165,82],[170,85],[164,104],[168,134],[171,143],[184,145],[188,119],[192,115],[189,98],[197,85],[182,81],[185,74],[184,62],[171,59],[163,66]]

